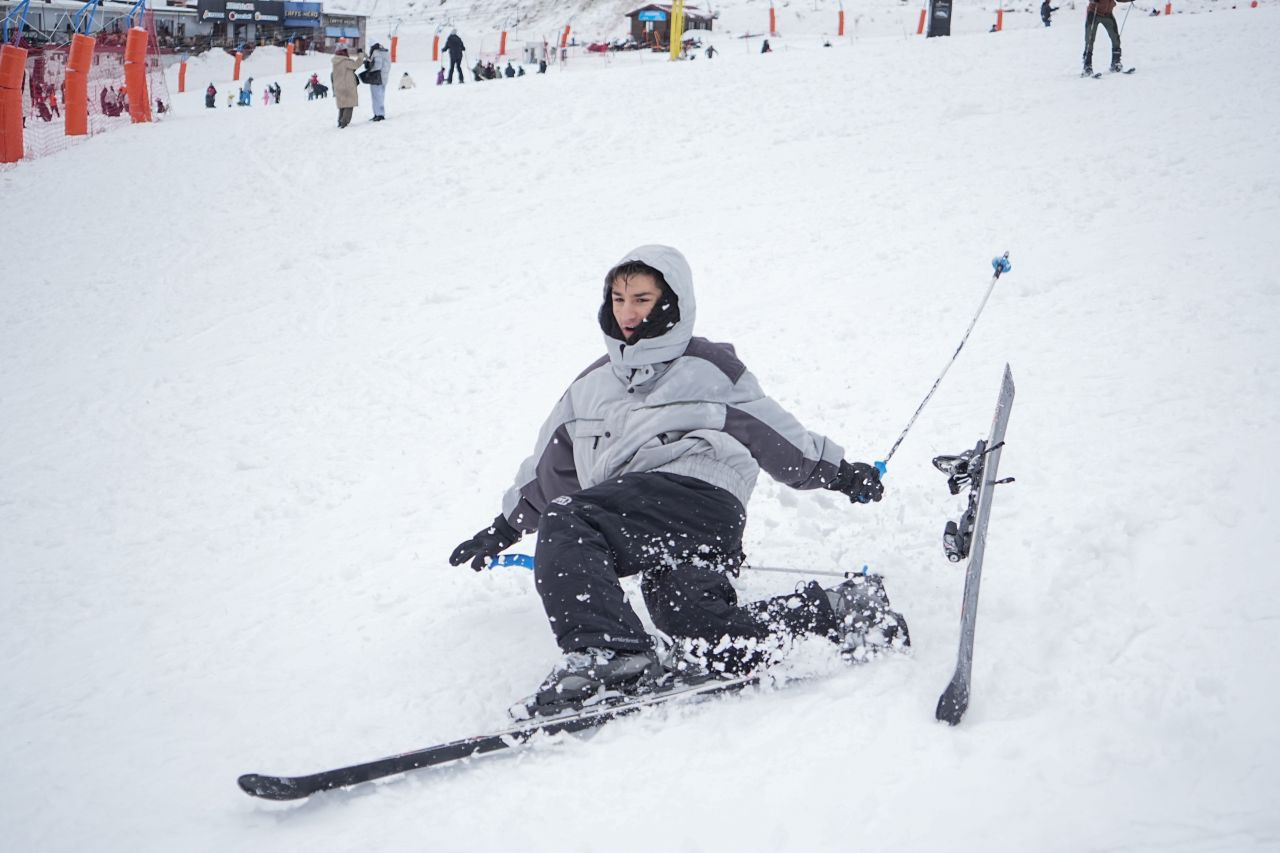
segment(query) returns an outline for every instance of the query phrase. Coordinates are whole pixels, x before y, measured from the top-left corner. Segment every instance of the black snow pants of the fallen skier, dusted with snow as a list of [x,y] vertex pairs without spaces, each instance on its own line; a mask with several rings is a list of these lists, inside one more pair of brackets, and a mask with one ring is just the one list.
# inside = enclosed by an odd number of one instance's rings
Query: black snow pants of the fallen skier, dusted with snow
[[717,669],[749,669],[787,637],[835,639],[835,612],[815,583],[739,606],[727,573],[742,562],[745,524],[730,492],[676,474],[626,474],[552,501],[535,578],[561,649],[652,647],[618,583],[635,574],[658,630],[705,640]]

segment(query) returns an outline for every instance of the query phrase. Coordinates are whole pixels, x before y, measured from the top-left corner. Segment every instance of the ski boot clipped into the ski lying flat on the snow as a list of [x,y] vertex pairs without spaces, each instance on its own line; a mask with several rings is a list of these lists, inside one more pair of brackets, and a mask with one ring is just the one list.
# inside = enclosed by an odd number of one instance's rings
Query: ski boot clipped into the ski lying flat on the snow
[[529,720],[579,711],[623,693],[643,692],[663,675],[654,652],[588,648],[567,652],[538,690],[511,707],[511,716]]

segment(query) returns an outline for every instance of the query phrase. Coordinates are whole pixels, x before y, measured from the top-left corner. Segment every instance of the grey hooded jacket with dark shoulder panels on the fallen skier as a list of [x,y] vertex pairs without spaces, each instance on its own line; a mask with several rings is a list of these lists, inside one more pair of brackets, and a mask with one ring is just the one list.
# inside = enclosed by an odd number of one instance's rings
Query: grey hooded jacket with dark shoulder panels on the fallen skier
[[667,279],[680,320],[634,345],[605,336],[608,355],[568,387],[520,466],[502,502],[507,521],[536,530],[552,500],[644,471],[704,480],[744,507],[762,467],[797,489],[829,484],[844,450],[767,397],[732,345],[692,337],[694,282],[685,256],[669,246],[641,246],[618,263],[635,260]]

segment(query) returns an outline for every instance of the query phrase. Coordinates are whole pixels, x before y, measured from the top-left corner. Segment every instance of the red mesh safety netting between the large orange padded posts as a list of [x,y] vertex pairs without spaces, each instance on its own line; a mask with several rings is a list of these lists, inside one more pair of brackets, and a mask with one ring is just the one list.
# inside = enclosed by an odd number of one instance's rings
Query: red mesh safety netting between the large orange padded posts
[[[165,83],[163,61],[173,55],[161,55],[156,44],[155,22],[147,12],[142,15],[142,28],[147,31],[147,97],[151,119],[163,120],[172,101]],[[132,124],[129,117],[131,92],[124,83],[124,37],[127,24],[122,19],[119,31],[104,29],[93,33],[93,64],[88,73],[88,133],[96,136]],[[70,46],[45,44],[27,47],[27,78],[22,87],[23,159],[49,156],[63,151],[84,137],[67,136],[64,110],[67,104],[67,59]]]

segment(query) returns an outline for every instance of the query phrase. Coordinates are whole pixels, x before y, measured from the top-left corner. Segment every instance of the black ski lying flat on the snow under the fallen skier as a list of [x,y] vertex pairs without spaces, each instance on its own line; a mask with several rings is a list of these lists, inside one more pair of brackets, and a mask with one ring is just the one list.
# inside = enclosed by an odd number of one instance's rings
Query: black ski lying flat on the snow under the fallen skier
[[276,800],[303,799],[311,794],[333,790],[334,788],[349,788],[351,785],[394,776],[411,770],[438,767],[463,758],[471,758],[472,756],[512,749],[526,744],[540,734],[554,735],[595,729],[617,717],[664,704],[673,699],[736,693],[759,684],[760,680],[760,675],[744,675],[733,679],[677,684],[662,692],[640,695],[614,695],[581,710],[548,717],[534,717],[502,731],[462,738],[461,740],[425,747],[398,756],[366,761],[335,770],[325,770],[307,776],[244,774],[237,783],[241,790],[251,797]]

